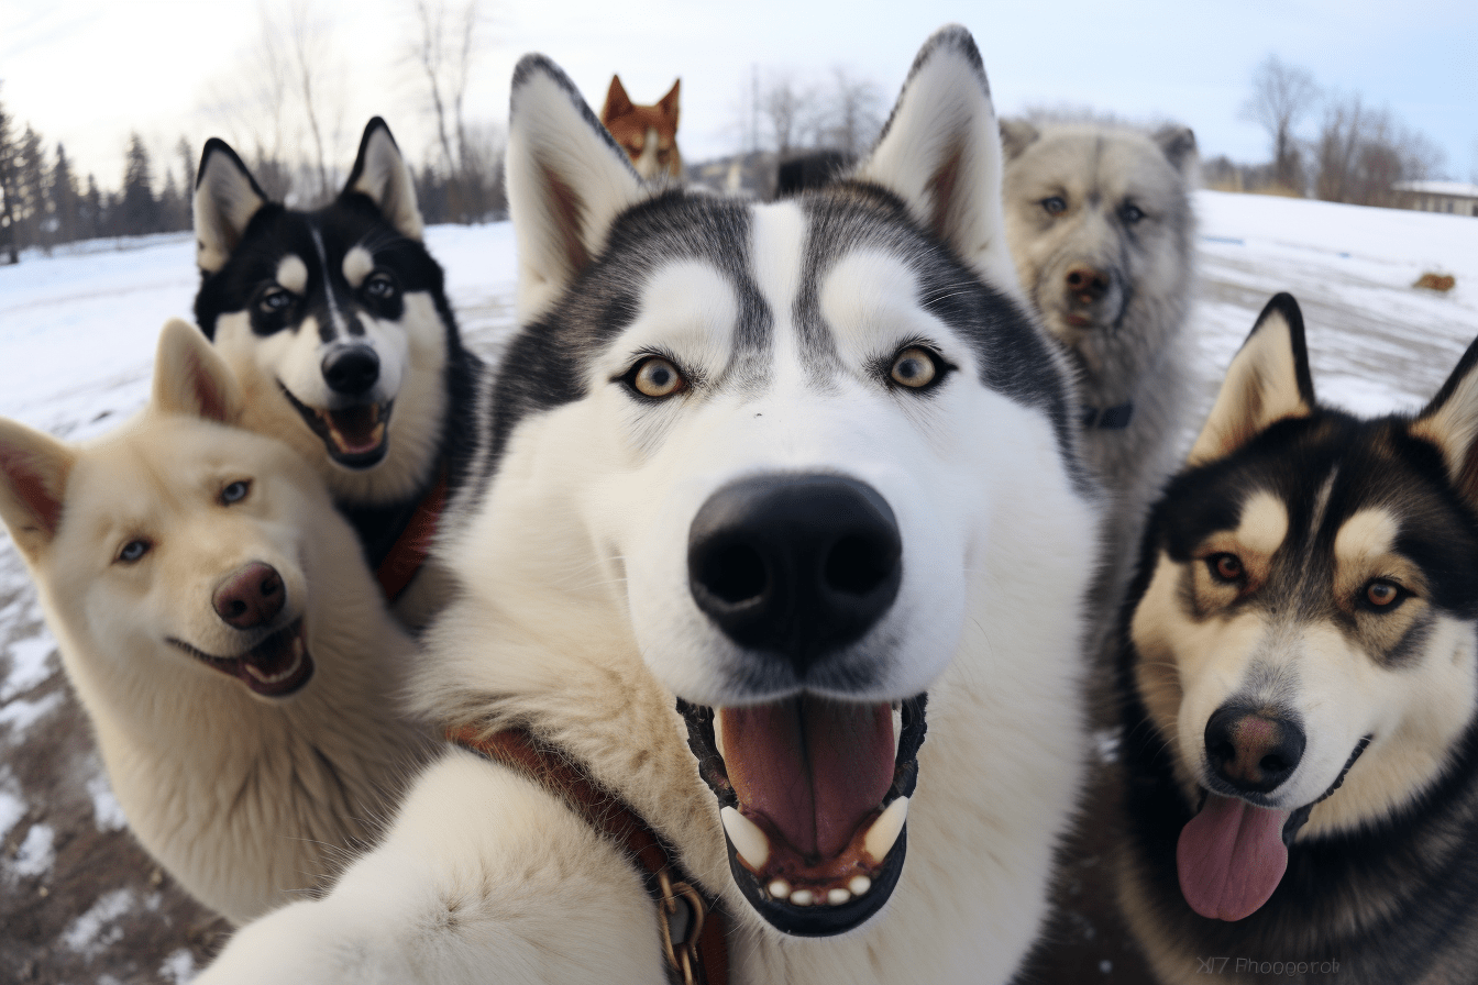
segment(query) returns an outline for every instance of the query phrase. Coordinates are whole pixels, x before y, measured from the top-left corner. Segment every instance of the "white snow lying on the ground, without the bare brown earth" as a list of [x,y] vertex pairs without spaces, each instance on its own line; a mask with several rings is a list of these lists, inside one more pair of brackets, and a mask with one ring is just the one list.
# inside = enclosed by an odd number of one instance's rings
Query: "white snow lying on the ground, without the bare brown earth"
[[[1304,307],[1321,399],[1364,413],[1423,403],[1478,335],[1478,220],[1219,192],[1199,192],[1196,205],[1200,273],[1191,332],[1206,405],[1277,291],[1293,292]],[[469,346],[495,351],[513,325],[511,227],[437,226],[426,236],[446,269]],[[1457,285],[1445,294],[1414,288],[1426,272],[1453,275]],[[86,244],[0,267],[0,415],[71,440],[112,428],[143,405],[160,326],[191,316],[197,284],[189,235]],[[1187,430],[1197,425],[1199,415],[1187,419]],[[55,642],[3,535],[0,600],[0,743],[13,746],[62,703],[64,691],[30,697],[56,672]],[[1111,759],[1111,737],[1095,738]],[[101,766],[84,786],[98,828],[121,827]],[[16,775],[0,766],[0,837],[28,812]],[[0,873],[46,873],[53,837],[49,826],[33,824],[13,858],[0,855]],[[139,905],[149,901],[129,890],[105,893],[72,920],[62,942],[101,954],[121,935],[117,919]],[[158,969],[160,979],[179,984],[194,973],[183,950]]]

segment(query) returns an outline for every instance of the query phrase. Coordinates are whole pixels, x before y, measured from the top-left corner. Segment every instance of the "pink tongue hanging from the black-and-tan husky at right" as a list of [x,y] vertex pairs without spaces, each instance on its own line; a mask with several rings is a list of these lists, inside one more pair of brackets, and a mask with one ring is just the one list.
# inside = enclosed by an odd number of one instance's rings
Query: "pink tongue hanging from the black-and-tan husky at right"
[[1242,920],[1268,901],[1289,865],[1287,811],[1252,806],[1215,793],[1181,828],[1175,862],[1191,910],[1212,920]]

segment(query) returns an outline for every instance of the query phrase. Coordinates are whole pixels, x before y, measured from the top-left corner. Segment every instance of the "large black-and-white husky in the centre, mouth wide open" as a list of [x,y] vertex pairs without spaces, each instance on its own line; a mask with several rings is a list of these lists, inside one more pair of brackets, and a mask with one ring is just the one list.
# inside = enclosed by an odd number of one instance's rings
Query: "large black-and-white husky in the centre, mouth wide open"
[[[726,914],[730,982],[1007,981],[1082,775],[1097,514],[974,41],[925,44],[853,180],[769,205],[644,186],[529,56],[508,189],[525,328],[420,704],[644,818]],[[643,882],[451,749],[200,981],[659,982]]]

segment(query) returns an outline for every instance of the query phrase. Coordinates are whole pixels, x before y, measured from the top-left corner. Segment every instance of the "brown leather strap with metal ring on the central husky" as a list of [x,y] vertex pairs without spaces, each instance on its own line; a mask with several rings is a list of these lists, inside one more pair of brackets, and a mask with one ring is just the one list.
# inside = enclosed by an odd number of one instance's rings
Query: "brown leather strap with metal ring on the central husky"
[[[729,947],[717,904],[683,877],[671,849],[618,796],[596,784],[560,749],[522,728],[479,738],[477,730],[464,725],[448,730],[446,738],[547,787],[585,824],[625,849],[643,870],[641,880],[658,907],[658,926],[672,981],[727,985]],[[686,920],[674,930],[680,908],[686,908]],[[674,939],[674,933],[681,939]]]

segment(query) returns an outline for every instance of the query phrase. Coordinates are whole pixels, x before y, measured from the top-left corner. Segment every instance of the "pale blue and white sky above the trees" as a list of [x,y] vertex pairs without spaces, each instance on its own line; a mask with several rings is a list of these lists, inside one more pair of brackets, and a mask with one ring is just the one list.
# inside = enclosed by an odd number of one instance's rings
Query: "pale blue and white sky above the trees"
[[[337,157],[349,164],[365,120],[384,115],[418,157],[430,143],[420,80],[398,56],[409,37],[403,0],[315,0],[331,22],[340,84]],[[791,69],[823,80],[845,66],[891,102],[919,44],[941,24],[965,24],[980,44],[998,111],[1088,105],[1194,127],[1206,157],[1265,159],[1267,140],[1239,118],[1253,66],[1270,52],[1315,80],[1360,92],[1425,131],[1450,177],[1478,170],[1478,3],[1383,1],[1126,4],[958,3],[556,3],[485,0],[488,40],[469,93],[470,115],[505,123],[513,64],[541,50],[599,106],[613,71],[652,102],[683,78],[684,155],[740,143],[742,93]],[[257,6],[186,0],[0,0],[0,97],[50,145],[65,142],[81,171],[117,186],[132,128],[163,152],[186,134],[232,139],[211,95],[241,78]],[[1310,134],[1317,114],[1304,124]],[[173,159],[173,158],[170,158]]]

